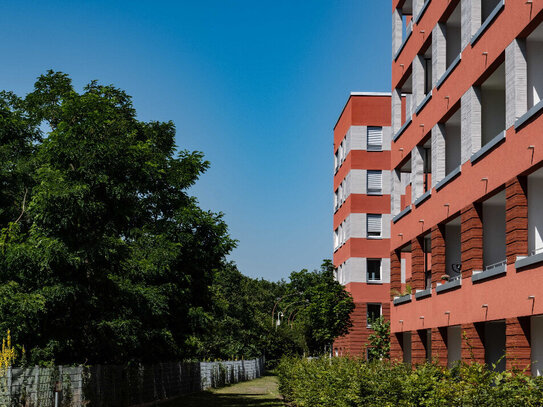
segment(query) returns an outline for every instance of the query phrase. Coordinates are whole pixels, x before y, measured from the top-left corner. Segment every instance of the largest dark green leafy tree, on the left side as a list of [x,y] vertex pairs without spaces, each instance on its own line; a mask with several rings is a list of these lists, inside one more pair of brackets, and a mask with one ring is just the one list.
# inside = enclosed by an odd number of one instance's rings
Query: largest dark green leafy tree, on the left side
[[235,245],[187,192],[203,155],[124,91],[52,71],[0,95],[0,129],[0,331],[34,362],[192,355]]

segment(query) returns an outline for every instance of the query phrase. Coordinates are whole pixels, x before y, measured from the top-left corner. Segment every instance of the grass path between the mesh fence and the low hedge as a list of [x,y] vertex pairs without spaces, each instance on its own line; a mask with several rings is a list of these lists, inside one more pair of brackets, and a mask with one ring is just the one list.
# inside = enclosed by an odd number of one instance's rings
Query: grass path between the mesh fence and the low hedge
[[284,407],[279,397],[277,378],[264,376],[260,379],[234,384],[202,393],[190,394],[172,400],[167,407]]

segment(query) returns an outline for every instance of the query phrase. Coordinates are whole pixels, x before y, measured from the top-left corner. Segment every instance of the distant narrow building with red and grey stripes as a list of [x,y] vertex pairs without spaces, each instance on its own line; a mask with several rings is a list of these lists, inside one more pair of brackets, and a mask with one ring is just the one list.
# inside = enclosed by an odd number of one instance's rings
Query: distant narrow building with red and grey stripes
[[336,355],[364,355],[370,321],[390,317],[390,93],[351,93],[334,127],[334,265],[355,302]]

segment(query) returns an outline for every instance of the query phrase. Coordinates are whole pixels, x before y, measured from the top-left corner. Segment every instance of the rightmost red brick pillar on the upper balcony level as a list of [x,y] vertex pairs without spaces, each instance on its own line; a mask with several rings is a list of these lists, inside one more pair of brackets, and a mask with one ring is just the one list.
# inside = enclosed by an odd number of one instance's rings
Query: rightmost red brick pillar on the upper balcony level
[[505,244],[507,264],[528,255],[528,180],[523,176],[505,184]]

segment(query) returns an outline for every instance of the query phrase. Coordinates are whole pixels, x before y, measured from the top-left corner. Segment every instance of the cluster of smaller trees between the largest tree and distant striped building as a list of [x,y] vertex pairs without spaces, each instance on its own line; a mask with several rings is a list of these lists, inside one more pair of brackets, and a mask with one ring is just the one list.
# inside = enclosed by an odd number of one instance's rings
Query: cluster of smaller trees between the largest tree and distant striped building
[[329,260],[319,270],[291,273],[288,283],[252,279],[228,264],[214,274],[211,293],[208,329],[198,339],[204,358],[264,353],[273,364],[285,354],[322,354],[347,332],[354,307]]

